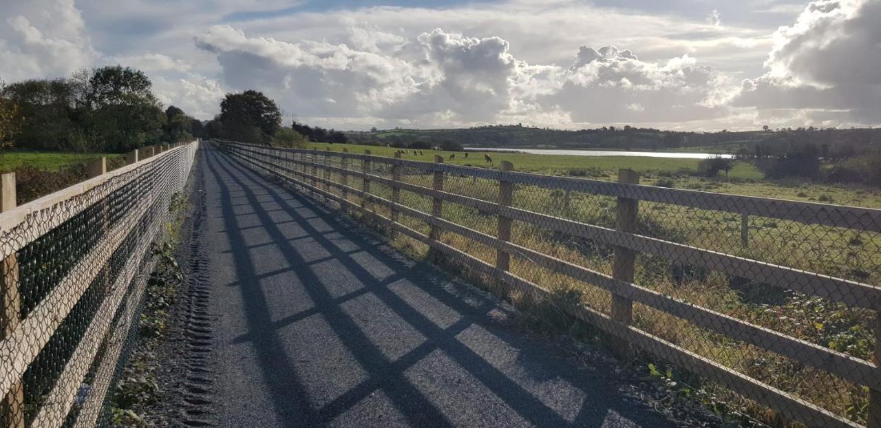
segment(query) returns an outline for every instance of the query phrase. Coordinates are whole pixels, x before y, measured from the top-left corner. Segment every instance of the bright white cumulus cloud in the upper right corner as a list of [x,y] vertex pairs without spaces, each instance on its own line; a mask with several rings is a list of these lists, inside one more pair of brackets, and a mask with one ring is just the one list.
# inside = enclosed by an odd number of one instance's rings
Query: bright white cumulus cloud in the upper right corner
[[[774,33],[766,73],[744,80],[738,107],[811,110],[843,124],[881,122],[881,2],[820,0]],[[821,121],[822,122],[822,121]],[[833,123],[835,124],[835,123]]]

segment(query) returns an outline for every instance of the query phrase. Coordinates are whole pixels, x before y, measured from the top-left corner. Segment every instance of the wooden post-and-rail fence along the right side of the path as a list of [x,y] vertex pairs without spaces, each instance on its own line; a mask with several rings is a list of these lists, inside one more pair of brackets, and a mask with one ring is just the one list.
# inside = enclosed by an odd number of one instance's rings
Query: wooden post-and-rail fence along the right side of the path
[[[841,277],[833,277],[803,269],[793,269],[772,262],[752,260],[743,255],[731,255],[683,243],[663,240],[637,233],[640,202],[663,203],[693,210],[713,210],[732,213],[737,221],[743,218],[776,218],[811,228],[835,227],[865,233],[881,232],[881,210],[847,207],[824,203],[803,203],[752,196],[714,194],[694,190],[657,188],[639,185],[639,176],[623,170],[618,182],[579,180],[566,177],[545,176],[532,173],[516,173],[514,166],[503,163],[500,170],[450,166],[436,157],[435,163],[389,159],[348,152],[308,151],[256,147],[248,144],[221,144],[223,150],[261,173],[280,178],[300,188],[305,188],[346,210],[360,213],[367,219],[382,225],[389,232],[403,233],[412,240],[426,244],[430,252],[449,255],[488,277],[498,278],[512,289],[522,291],[535,299],[549,296],[546,288],[511,272],[511,257],[549,269],[554,273],[571,277],[585,284],[611,292],[611,311],[597,310],[589,305],[566,300],[555,300],[561,309],[574,317],[589,322],[611,334],[617,351],[628,352],[633,347],[648,351],[659,358],[713,380],[753,402],[766,406],[785,418],[809,426],[861,426],[854,419],[867,421],[868,426],[881,426],[881,371],[878,366],[863,358],[846,352],[834,351],[822,344],[797,338],[786,331],[776,331],[757,323],[744,321],[724,314],[722,311],[695,305],[665,295],[640,284],[634,284],[634,259],[637,255],[653,255],[676,259],[691,266],[722,272],[732,277],[746,278],[769,287],[796,291],[802,295],[815,296],[837,302],[840,305],[877,311],[881,309],[881,288]],[[396,156],[399,158],[399,156]],[[421,183],[402,179],[408,171],[426,176]],[[403,175],[402,175],[403,174]],[[331,177],[336,177],[332,180]],[[495,200],[465,196],[444,189],[445,177],[470,178],[472,182],[491,181],[498,195]],[[352,180],[360,185],[352,185]],[[431,187],[427,185],[431,182]],[[372,192],[371,184],[391,189],[386,197]],[[589,195],[611,196],[616,199],[616,225],[604,227],[582,223],[578,219],[560,218],[549,214],[515,207],[512,198],[515,186],[523,188],[565,189]],[[431,199],[431,211],[406,206],[401,202],[401,192],[411,192]],[[352,196],[356,199],[352,201]],[[476,210],[482,215],[497,218],[496,233],[456,224],[442,218],[445,203],[454,203]],[[566,199],[568,203],[568,199]],[[403,224],[401,216],[424,222],[428,232],[419,232],[413,226]],[[575,262],[562,260],[536,249],[515,243],[511,238],[512,222],[538,225],[568,236],[588,239],[614,248],[611,275],[589,269]],[[745,227],[738,232],[739,240]],[[814,230],[814,229],[810,229]],[[441,232],[451,232],[473,240],[496,252],[495,262],[489,262],[468,254],[440,239]],[[746,247],[746,242],[744,242]],[[870,403],[862,415],[848,418],[840,412],[826,410],[803,397],[784,391],[766,382],[754,379],[723,364],[707,358],[699,352],[665,340],[633,325],[634,302],[653,310],[670,314],[729,340],[744,343],[773,352],[795,362],[796,365],[812,367],[828,373],[855,386],[868,388]],[[862,309],[861,309],[862,308]],[[872,314],[875,314],[874,312]],[[873,318],[874,320],[874,318]],[[881,331],[876,328],[876,334]],[[875,341],[874,358],[881,358]]]

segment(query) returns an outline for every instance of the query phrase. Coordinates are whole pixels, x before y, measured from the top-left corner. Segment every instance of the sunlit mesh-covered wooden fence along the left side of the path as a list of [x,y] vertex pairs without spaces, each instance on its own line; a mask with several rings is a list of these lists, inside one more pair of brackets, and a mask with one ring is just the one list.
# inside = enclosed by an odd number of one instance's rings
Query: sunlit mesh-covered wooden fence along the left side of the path
[[[105,159],[78,185],[15,206],[0,200],[0,428],[93,426],[137,320],[151,244],[189,175],[198,143]],[[145,156],[149,156],[144,159]]]

